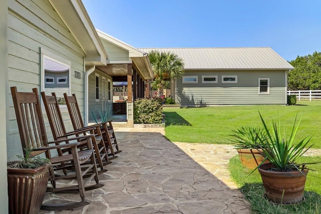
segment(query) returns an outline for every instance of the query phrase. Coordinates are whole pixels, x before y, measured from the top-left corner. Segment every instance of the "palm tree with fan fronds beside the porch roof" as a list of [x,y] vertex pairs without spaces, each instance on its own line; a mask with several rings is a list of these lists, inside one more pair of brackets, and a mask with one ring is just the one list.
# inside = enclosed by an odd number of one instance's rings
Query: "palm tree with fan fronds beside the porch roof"
[[158,96],[162,96],[164,88],[171,88],[171,80],[184,74],[184,61],[171,52],[151,51],[148,56],[154,73],[151,86],[157,90]]

